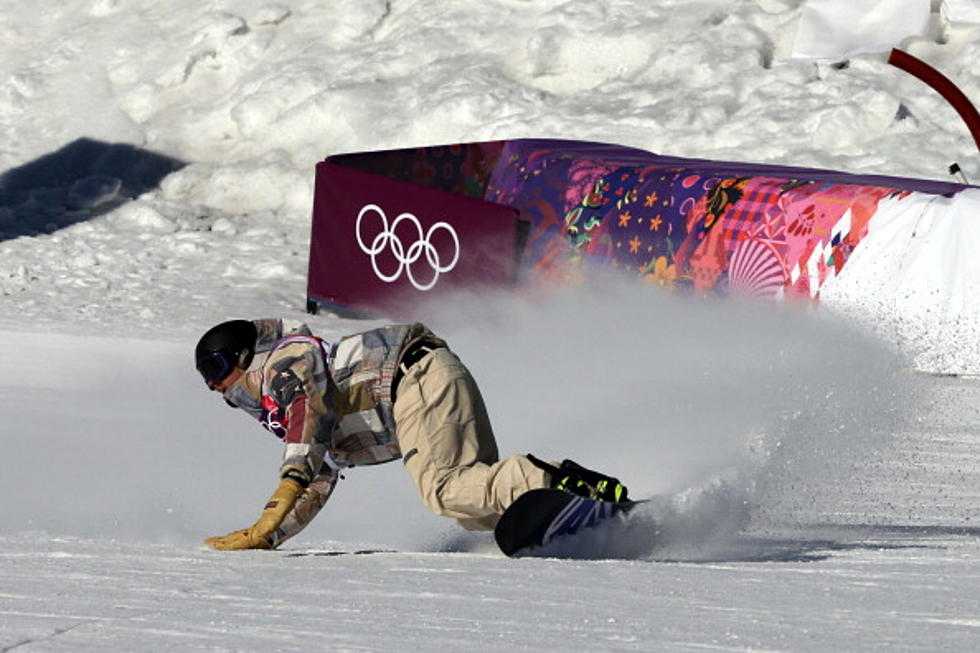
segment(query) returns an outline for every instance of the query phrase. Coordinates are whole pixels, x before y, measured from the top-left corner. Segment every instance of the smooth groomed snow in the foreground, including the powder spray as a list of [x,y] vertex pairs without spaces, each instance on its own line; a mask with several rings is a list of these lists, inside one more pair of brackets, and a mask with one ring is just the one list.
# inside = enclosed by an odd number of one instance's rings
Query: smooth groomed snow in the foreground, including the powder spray
[[206,550],[255,519],[278,441],[179,343],[3,332],[0,649],[970,650],[980,386],[813,315],[630,291],[434,314],[503,451],[652,497],[575,551],[605,561],[504,558],[398,463],[280,551]]

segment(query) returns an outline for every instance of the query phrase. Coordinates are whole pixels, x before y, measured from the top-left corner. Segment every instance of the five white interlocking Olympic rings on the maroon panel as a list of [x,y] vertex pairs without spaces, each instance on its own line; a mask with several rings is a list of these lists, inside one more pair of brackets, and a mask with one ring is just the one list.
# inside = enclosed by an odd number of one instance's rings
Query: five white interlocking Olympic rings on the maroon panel
[[[361,221],[364,216],[369,213],[377,213],[381,218],[381,233],[374,237],[371,241],[370,246],[365,244],[364,237],[361,235]],[[415,225],[416,231],[418,231],[418,238],[414,243],[405,248],[401,239],[395,234],[395,230],[398,225],[403,222],[409,222]],[[371,257],[371,267],[374,269],[374,274],[377,275],[379,279],[385,283],[394,283],[397,281],[404,271],[408,276],[409,282],[417,290],[426,291],[432,289],[439,281],[439,275],[449,272],[459,261],[459,236],[456,235],[456,230],[446,222],[437,222],[426,232],[422,230],[422,224],[419,219],[416,218],[411,213],[402,213],[391,223],[391,227],[388,226],[388,217],[385,212],[377,204],[366,204],[361,211],[357,214],[357,223],[355,225],[357,230],[357,244],[361,247],[361,251]],[[443,265],[442,258],[439,256],[439,252],[436,250],[435,246],[432,244],[432,235],[439,229],[445,229],[449,232],[449,235],[453,239],[453,256],[452,260],[447,264]],[[391,249],[391,254],[398,261],[398,268],[392,274],[385,274],[378,268],[378,254],[382,253],[386,249]],[[422,254],[425,254],[425,260],[432,268],[433,275],[432,279],[428,283],[419,283],[412,274],[412,264],[418,261]]]

